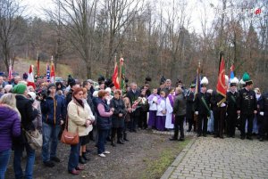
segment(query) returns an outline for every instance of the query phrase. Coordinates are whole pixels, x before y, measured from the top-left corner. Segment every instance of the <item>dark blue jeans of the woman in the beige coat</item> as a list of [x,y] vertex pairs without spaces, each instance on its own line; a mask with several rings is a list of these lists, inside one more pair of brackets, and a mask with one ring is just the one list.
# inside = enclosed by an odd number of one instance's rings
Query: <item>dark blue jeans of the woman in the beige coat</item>
[[71,152],[70,152],[69,161],[68,161],[68,171],[75,169],[79,165],[80,145],[81,145],[81,142],[79,142],[76,145],[71,145]]

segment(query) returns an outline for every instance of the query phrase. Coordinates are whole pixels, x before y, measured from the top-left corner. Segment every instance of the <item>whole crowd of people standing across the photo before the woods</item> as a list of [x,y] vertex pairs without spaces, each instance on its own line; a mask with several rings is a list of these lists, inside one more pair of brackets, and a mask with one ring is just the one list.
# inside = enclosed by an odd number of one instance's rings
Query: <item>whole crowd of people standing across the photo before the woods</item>
[[[96,142],[97,155],[110,154],[105,144],[116,147],[128,142],[127,134],[138,129],[174,130],[171,141],[184,141],[187,132],[197,136],[235,137],[236,127],[240,138],[252,140],[257,134],[260,141],[267,138],[268,94],[253,90],[253,82],[227,77],[226,98],[208,89],[203,77],[200,92],[196,84],[187,89],[179,80],[172,87],[171,79],[161,79],[158,87],[150,89],[151,78],[143,86],[135,82],[126,90],[115,89],[111,79],[98,78],[98,85],[88,79],[78,83],[71,76],[66,84],[39,80],[36,86],[27,84],[20,76],[7,82],[0,77],[0,179],[9,163],[13,150],[15,178],[33,178],[35,150],[29,145],[25,132],[38,131],[43,136],[41,155],[45,167],[61,162],[57,154],[59,138],[66,126],[70,133],[79,134],[79,143],[71,145],[67,170],[79,175],[88,159],[87,144]],[[239,87],[240,85],[240,87]],[[246,127],[247,126],[247,127]],[[245,131],[247,128],[247,131]],[[179,137],[180,131],[180,137]],[[26,150],[26,167],[21,168],[22,152]]]

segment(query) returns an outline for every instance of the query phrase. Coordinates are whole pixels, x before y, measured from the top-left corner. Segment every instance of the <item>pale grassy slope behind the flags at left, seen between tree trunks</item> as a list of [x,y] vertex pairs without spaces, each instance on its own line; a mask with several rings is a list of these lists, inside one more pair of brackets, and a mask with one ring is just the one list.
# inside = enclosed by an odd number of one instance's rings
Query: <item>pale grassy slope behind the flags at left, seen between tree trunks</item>
[[[14,61],[13,71],[18,72],[22,77],[23,73],[29,72],[29,65],[34,65],[36,68],[37,61],[29,59],[18,59]],[[63,77],[64,79],[66,79],[67,76],[72,73],[73,73],[72,69],[68,65],[57,64],[57,69],[55,71],[56,77]],[[45,74],[46,74],[46,62],[40,61],[40,75],[43,76]]]

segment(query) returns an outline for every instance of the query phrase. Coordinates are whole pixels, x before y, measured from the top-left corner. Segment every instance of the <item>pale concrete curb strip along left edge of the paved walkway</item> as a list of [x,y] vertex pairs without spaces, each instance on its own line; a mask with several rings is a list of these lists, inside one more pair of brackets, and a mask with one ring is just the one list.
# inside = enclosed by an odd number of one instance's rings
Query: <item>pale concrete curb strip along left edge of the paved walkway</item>
[[187,154],[188,150],[191,148],[191,146],[197,141],[197,138],[193,138],[191,142],[189,142],[187,144],[187,146],[180,151],[180,154],[178,155],[178,157],[172,162],[172,165],[170,167],[167,168],[167,170],[163,173],[163,175],[161,176],[160,179],[168,179],[173,171],[176,169],[176,167],[179,166],[180,161],[184,158],[184,156]]

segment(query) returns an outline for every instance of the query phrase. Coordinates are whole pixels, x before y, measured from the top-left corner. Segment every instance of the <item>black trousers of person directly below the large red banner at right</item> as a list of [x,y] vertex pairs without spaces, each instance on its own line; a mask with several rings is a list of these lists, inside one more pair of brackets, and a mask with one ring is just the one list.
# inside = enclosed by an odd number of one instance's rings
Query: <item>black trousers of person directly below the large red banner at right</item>
[[214,135],[223,136],[226,108],[220,107],[214,110]]

